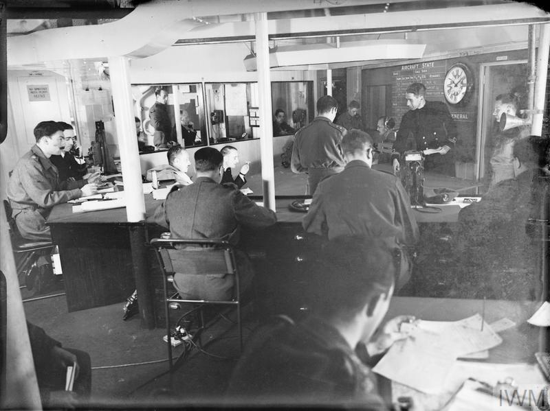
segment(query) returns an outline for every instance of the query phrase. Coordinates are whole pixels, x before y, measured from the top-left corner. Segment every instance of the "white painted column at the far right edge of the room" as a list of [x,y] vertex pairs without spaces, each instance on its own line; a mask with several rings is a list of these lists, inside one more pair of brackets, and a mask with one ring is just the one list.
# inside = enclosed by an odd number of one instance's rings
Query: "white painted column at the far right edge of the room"
[[[531,124],[531,135],[542,135],[542,117],[544,110],[544,94],[546,92],[546,81],[548,75],[548,54],[550,51],[550,24],[540,25],[537,51],[537,71],[535,80],[535,101],[533,123]],[[537,113],[538,112],[538,113]]]

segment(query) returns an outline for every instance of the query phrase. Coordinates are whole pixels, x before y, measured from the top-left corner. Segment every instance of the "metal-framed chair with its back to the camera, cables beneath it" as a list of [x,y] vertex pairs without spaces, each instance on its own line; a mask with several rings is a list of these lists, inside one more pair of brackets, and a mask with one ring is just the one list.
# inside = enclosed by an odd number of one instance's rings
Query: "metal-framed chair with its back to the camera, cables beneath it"
[[[236,307],[236,321],[239,327],[239,347],[243,349],[243,333],[241,325],[241,288],[239,284],[239,272],[236,268],[234,248],[226,241],[214,239],[151,239],[151,246],[155,248],[155,254],[163,274],[164,284],[164,309],[166,313],[166,344],[168,347],[168,361],[170,373],[173,371],[172,344],[170,338],[170,304],[191,303],[203,305],[234,305]],[[234,274],[234,292],[236,296],[232,300],[212,301],[205,299],[184,299],[173,290],[168,290],[168,283],[173,282],[173,274]],[[201,327],[199,332],[205,329],[201,311]]]

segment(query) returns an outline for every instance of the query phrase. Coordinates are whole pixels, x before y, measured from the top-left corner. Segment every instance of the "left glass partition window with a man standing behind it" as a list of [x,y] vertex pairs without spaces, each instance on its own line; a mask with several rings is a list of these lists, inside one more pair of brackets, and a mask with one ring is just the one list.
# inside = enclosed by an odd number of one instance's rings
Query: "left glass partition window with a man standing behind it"
[[135,127],[140,152],[206,145],[203,91],[197,84],[134,84]]

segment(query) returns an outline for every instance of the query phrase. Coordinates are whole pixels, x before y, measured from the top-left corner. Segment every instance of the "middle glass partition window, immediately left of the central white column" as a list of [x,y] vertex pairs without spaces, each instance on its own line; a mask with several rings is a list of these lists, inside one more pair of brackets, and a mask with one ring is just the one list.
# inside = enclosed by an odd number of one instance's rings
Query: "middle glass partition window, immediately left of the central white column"
[[210,144],[255,139],[258,108],[258,84],[215,83],[206,84],[206,107],[210,118]]

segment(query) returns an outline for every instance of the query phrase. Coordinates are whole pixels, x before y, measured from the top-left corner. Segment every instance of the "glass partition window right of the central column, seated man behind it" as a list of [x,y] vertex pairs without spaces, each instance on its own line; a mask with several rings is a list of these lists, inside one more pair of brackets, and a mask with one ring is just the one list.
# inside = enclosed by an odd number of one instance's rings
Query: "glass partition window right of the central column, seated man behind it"
[[313,119],[313,82],[272,82],[273,135],[294,134]]

